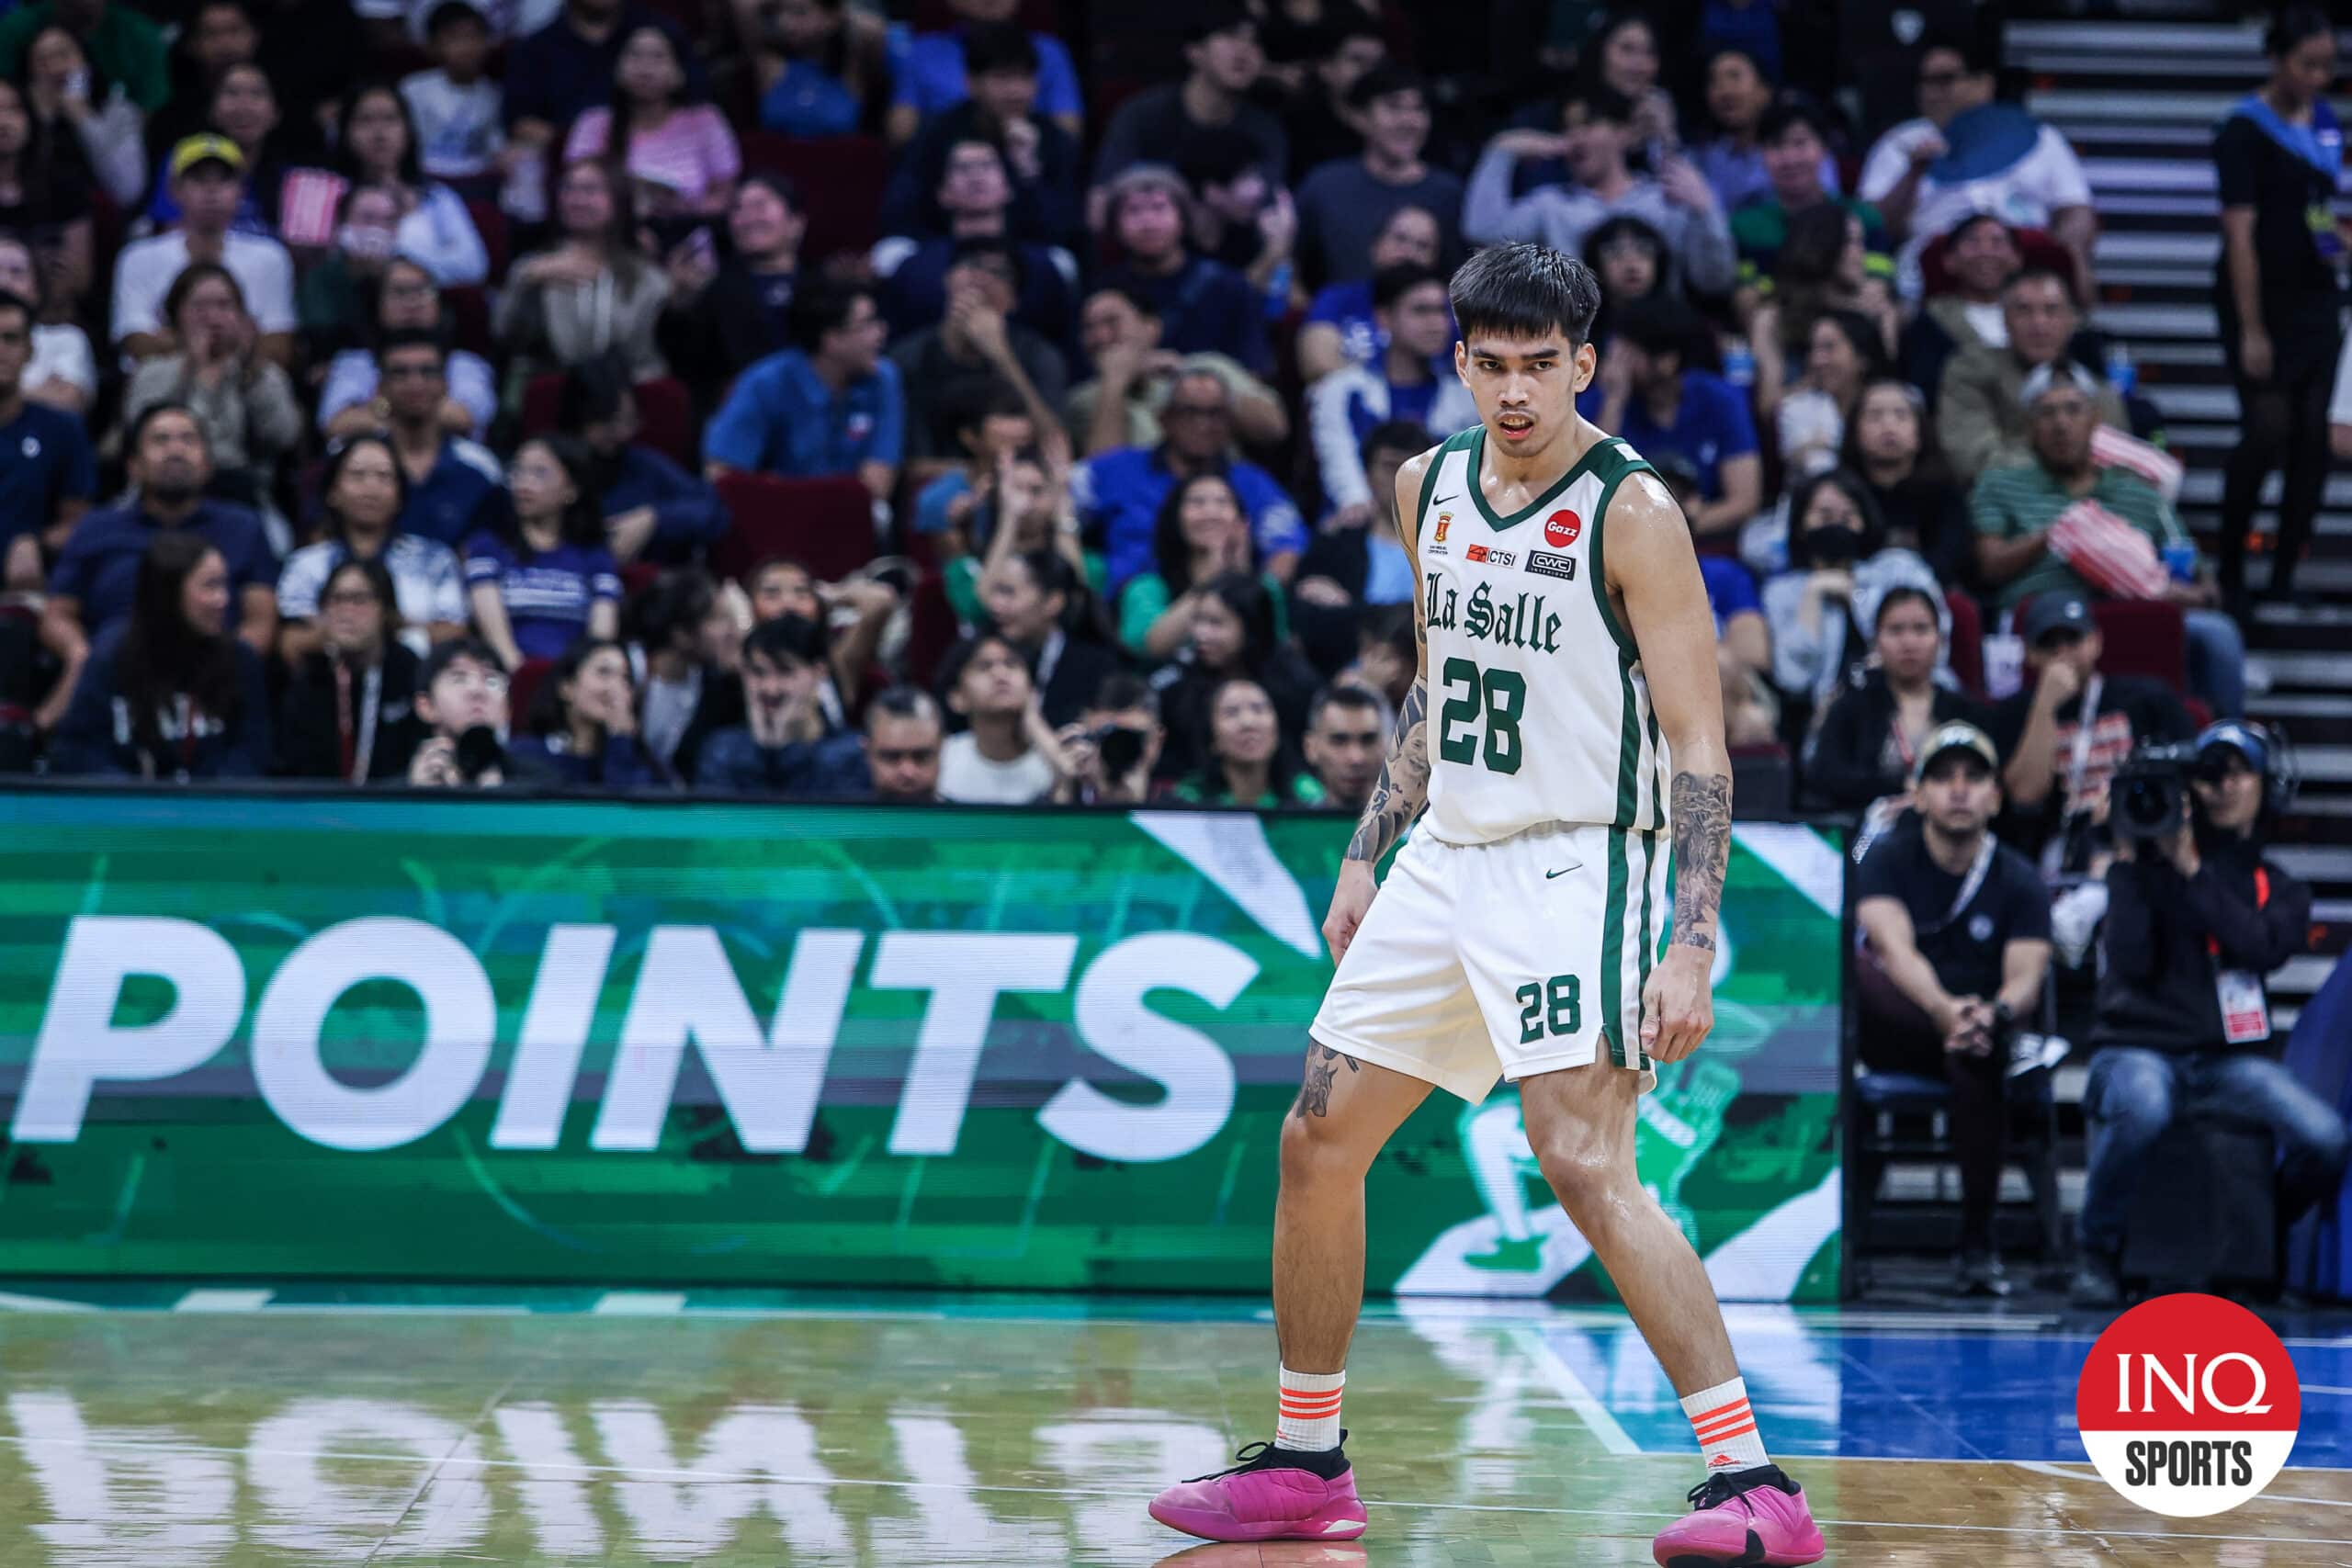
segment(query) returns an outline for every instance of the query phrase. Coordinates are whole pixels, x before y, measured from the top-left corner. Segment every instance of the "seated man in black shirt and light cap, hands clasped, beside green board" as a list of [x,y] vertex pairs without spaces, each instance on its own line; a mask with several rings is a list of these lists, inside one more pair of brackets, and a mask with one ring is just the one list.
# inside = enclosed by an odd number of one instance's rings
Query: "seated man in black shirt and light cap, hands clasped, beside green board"
[[1992,1251],[2009,1034],[2051,961],[2051,900],[2032,863],[1987,832],[2002,785],[1973,724],[1945,724],[1912,769],[1915,816],[1853,877],[1863,1063],[1940,1077],[1959,1150],[1959,1286],[2009,1295]]

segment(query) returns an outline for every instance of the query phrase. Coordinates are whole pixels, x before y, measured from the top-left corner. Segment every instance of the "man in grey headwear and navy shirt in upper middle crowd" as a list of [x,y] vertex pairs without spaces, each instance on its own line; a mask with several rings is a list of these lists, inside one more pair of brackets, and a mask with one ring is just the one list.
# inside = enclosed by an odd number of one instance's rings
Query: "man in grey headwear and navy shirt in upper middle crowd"
[[1265,374],[1265,310],[1249,280],[1185,249],[1192,193],[1167,165],[1136,165],[1110,181],[1105,226],[1120,263],[1103,268],[1098,289],[1127,289],[1160,313],[1160,343],[1171,353],[1221,353]]

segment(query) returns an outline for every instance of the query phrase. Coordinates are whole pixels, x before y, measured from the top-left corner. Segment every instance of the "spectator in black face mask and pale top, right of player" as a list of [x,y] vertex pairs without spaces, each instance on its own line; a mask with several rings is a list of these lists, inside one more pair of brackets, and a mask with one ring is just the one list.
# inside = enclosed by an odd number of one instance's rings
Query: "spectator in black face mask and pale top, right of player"
[[[1788,571],[1764,583],[1773,684],[1802,703],[1825,703],[1846,665],[1867,649],[1879,597],[1907,585],[1943,607],[1943,585],[1910,550],[1886,548],[1886,524],[1863,482],[1832,468],[1797,489],[1788,508]],[[1950,611],[1938,616],[1938,628]]]

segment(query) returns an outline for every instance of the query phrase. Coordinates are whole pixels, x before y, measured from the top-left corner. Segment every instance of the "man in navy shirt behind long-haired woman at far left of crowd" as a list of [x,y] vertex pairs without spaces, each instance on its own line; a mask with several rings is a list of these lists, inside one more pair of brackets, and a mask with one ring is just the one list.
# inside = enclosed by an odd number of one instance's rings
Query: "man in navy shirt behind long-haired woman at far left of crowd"
[[132,498],[73,524],[66,550],[49,571],[40,639],[64,665],[64,679],[35,715],[42,729],[64,717],[73,682],[89,661],[89,642],[132,614],[139,562],[160,531],[186,529],[221,552],[238,637],[256,654],[268,654],[278,635],[278,555],[256,512],[205,498],[212,454],[195,414],[176,402],[158,402],[132,423],[125,451]]

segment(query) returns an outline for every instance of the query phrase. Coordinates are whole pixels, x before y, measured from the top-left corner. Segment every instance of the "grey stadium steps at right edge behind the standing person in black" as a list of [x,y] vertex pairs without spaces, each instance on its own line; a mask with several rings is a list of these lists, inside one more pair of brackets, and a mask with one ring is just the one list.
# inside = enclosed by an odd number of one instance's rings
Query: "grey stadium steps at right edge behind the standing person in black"
[[[2013,21],[2004,47],[2027,82],[2027,108],[2084,160],[2100,219],[2091,322],[2131,350],[2140,390],[2187,463],[2183,522],[2211,548],[2220,465],[2237,444],[2237,390],[2213,315],[2220,207],[2211,139],[2267,73],[2260,26]],[[2277,494],[2272,477],[2256,517],[2258,548],[2277,536]],[[2258,552],[2251,581],[2265,576],[2267,552]],[[2284,726],[2303,764],[2279,858],[2312,882],[2312,917],[2324,929],[2319,952],[2272,983],[2281,1025],[2319,990],[2352,936],[2352,473],[2328,477],[2312,559],[2296,581],[2321,592],[2324,604],[2265,604],[2246,628],[2249,712]]]

